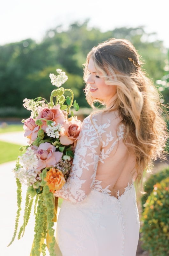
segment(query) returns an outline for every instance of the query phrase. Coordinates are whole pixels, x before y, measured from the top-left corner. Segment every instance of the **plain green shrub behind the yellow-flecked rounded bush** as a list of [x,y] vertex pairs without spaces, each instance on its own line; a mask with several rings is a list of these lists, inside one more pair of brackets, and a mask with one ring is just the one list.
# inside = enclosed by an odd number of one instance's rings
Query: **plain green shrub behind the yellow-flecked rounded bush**
[[167,177],[169,177],[169,167],[156,174],[151,174],[150,177],[146,180],[144,183],[144,192],[146,192],[146,194],[141,197],[142,210],[144,210],[146,206],[146,200],[150,196],[154,185]]

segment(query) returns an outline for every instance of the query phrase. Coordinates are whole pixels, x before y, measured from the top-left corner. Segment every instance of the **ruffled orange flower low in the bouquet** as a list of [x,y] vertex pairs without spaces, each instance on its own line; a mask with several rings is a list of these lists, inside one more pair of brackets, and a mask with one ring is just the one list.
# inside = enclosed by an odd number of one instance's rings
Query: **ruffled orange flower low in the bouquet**
[[61,189],[66,182],[63,173],[54,167],[50,168],[44,180],[47,181],[47,185],[52,192]]

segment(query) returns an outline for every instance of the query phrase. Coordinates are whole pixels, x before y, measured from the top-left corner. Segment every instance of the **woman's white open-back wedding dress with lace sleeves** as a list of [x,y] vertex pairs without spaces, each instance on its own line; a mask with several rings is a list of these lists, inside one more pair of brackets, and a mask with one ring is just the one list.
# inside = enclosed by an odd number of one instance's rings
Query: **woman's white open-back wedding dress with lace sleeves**
[[55,193],[65,199],[56,228],[62,256],[136,255],[140,222],[130,174],[135,158],[119,124],[117,113],[83,121],[70,177]]

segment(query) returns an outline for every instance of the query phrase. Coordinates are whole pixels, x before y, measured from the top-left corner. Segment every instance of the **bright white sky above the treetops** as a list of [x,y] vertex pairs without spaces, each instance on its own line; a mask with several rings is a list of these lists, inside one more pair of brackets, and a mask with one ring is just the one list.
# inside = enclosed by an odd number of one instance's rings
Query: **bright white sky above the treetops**
[[39,42],[50,28],[90,19],[101,31],[145,26],[169,48],[166,0],[2,0],[0,45],[32,38]]

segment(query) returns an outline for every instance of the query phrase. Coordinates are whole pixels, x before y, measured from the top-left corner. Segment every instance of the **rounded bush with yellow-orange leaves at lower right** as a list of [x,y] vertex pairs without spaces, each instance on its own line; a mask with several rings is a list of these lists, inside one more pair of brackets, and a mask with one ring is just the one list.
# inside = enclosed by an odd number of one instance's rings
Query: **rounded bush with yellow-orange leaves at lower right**
[[142,215],[142,248],[150,256],[169,255],[169,177],[154,185]]

